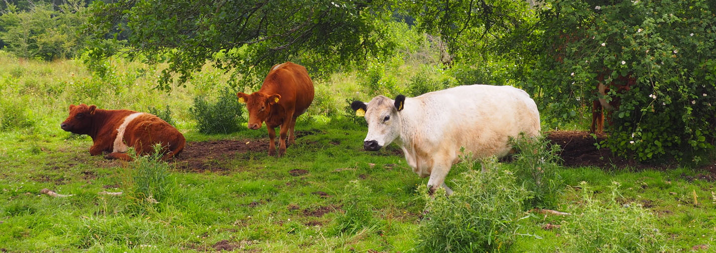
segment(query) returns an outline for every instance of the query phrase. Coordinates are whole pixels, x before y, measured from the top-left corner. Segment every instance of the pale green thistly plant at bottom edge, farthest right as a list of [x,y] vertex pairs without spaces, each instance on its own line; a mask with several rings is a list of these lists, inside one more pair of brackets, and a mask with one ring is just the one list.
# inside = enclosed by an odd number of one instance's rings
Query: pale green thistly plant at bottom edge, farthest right
[[566,217],[561,234],[566,244],[560,252],[672,252],[668,239],[654,226],[656,218],[641,204],[619,204],[619,184],[610,187],[611,198],[601,202],[586,182],[581,201]]

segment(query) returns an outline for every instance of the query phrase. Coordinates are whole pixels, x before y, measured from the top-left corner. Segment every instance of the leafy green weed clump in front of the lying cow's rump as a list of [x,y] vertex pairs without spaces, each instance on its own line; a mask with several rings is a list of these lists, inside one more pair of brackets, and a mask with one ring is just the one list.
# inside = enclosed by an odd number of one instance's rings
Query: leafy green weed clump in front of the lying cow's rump
[[175,187],[171,181],[169,164],[162,161],[161,144],[155,144],[154,153],[146,156],[137,156],[130,151],[134,161],[130,162],[132,172],[132,189],[129,193],[132,199],[139,202],[165,201]]

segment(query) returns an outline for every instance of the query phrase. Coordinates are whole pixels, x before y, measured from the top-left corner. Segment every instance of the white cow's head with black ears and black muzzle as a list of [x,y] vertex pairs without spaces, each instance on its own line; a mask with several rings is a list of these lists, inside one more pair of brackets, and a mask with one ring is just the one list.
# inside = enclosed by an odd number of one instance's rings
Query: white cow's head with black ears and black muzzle
[[368,134],[363,141],[363,148],[378,151],[400,135],[400,116],[398,112],[405,106],[405,96],[399,95],[395,101],[386,96],[376,96],[367,104],[353,101],[351,108],[356,115],[364,115],[368,122]]

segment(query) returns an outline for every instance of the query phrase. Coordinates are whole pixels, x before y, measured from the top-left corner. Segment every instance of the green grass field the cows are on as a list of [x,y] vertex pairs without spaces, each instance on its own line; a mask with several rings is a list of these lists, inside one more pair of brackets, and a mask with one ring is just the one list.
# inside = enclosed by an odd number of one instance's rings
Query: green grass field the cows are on
[[[6,120],[14,115],[13,122],[19,122],[0,132],[2,252],[416,251],[426,204],[420,189],[427,179],[410,171],[395,146],[364,152],[365,127],[340,115],[319,114],[340,111],[344,99],[366,92],[357,86],[360,80],[355,74],[316,81],[323,106],[299,121],[296,129],[305,135],[296,139],[285,157],[269,157],[267,151],[258,150],[205,157],[205,163],[220,169],[203,171],[183,167],[181,162],[144,161],[161,175],[153,181],[159,182],[155,187],[162,187],[161,195],[153,196],[158,204],[151,204],[132,194],[147,180],[137,176],[139,162],[90,157],[89,137],[59,129],[67,106],[83,102],[143,111],[168,104],[189,145],[217,140],[235,140],[238,145],[247,140],[266,142],[266,129],[218,135],[193,129],[195,123],[188,116],[192,97],[210,95],[223,75],[207,69],[186,88],[166,94],[151,89],[151,76],[132,74],[138,67],[133,63],[115,63],[120,81],[95,89],[93,85],[102,80],[93,79],[79,61],[19,61],[7,54],[0,54],[0,61],[9,62],[0,66],[1,115]],[[410,66],[401,71],[411,74]],[[465,170],[454,167],[448,184]],[[683,167],[664,171],[560,167],[558,174],[566,185],[556,209],[573,217],[594,217],[594,224],[610,224],[607,216],[586,216],[594,215],[585,208],[584,185],[588,185],[588,193],[601,203],[614,199],[616,205],[604,206],[604,214],[637,207],[653,215],[655,222],[648,225],[665,234],[664,251],[712,252],[716,183],[712,175],[702,173]],[[619,184],[616,195],[609,190],[613,182]],[[73,196],[40,194],[45,188]],[[125,194],[98,194],[102,191]],[[340,232],[337,218],[356,202],[368,207],[360,211],[369,212],[374,223],[356,232]],[[562,230],[572,226],[574,218],[526,217],[519,221],[521,235],[514,244],[498,252],[578,252],[574,247],[578,243],[569,239],[574,237]],[[618,234],[619,228],[614,230]]]

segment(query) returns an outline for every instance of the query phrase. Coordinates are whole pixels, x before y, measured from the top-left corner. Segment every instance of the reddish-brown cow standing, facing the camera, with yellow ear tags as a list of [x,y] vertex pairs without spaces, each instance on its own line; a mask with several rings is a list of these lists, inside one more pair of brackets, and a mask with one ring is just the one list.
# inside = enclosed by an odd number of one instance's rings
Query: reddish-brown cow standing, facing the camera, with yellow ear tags
[[246,103],[249,129],[259,129],[261,123],[266,121],[271,139],[269,144],[271,156],[276,154],[274,128],[281,126],[279,132],[279,157],[281,157],[286,153],[286,133],[290,131],[289,142],[296,143],[294,137],[296,118],[304,114],[313,102],[313,81],[304,66],[286,61],[271,67],[261,89],[251,95],[239,92],[236,96],[238,101]]

